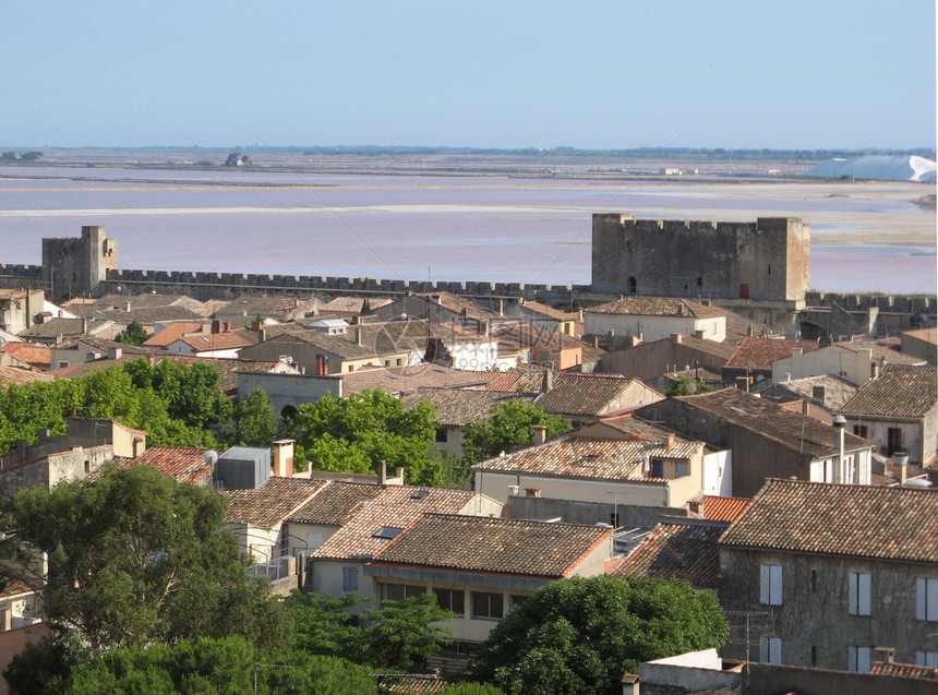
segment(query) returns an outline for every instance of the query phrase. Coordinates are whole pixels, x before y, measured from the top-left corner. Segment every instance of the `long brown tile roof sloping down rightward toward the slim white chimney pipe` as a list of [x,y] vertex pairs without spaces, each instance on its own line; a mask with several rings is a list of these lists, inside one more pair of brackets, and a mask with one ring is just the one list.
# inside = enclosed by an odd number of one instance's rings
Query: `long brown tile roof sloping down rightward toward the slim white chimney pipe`
[[[675,400],[692,408],[710,412],[736,427],[756,432],[780,444],[810,456],[832,456],[833,428],[799,412],[791,412],[779,404],[758,398],[739,388],[723,388],[695,396],[677,396]],[[639,417],[641,411],[639,411]],[[845,432],[845,451],[871,448],[873,442]]]

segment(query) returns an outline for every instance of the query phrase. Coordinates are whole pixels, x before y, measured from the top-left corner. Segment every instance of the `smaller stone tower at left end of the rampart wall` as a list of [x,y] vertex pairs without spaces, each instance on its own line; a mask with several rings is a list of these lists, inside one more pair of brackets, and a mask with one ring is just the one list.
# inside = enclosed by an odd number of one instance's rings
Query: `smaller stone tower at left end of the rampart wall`
[[117,269],[117,240],[104,227],[82,227],[79,238],[43,239],[43,280],[52,301],[93,297],[109,269]]

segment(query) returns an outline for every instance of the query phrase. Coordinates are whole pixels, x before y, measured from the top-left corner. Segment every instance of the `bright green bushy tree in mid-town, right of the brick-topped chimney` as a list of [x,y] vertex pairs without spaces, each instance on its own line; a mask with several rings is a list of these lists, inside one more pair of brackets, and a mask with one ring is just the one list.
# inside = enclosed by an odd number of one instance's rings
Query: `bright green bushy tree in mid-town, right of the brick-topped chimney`
[[400,398],[381,391],[326,395],[301,405],[292,427],[298,457],[316,469],[374,472],[385,460],[392,470],[402,467],[413,484],[443,482],[440,463],[428,458],[437,427],[429,404],[408,410]]

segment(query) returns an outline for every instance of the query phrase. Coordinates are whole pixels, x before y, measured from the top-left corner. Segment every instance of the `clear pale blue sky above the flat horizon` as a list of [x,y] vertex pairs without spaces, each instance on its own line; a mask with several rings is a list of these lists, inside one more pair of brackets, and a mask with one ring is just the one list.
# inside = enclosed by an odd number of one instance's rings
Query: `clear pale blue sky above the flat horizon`
[[0,146],[935,146],[935,2],[4,2]]

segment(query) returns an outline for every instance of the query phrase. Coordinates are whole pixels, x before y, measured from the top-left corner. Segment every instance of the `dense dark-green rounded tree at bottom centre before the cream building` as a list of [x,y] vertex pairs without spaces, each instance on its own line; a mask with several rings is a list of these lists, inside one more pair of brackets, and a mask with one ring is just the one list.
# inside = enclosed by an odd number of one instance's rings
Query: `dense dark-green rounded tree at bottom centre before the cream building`
[[554,582],[512,610],[482,644],[469,675],[506,693],[612,695],[623,671],[721,647],[726,620],[712,594],[687,582],[599,576]]

